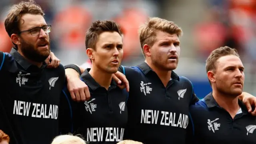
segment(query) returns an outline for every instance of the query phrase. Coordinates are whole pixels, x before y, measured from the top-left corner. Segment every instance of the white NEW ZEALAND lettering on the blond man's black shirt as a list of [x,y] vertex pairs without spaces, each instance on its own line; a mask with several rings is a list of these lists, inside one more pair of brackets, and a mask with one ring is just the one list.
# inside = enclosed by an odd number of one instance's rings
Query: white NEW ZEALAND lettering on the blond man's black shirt
[[141,124],[160,124],[163,126],[175,126],[186,129],[188,126],[188,115],[175,112],[160,111],[161,120],[158,122],[159,110],[141,110]]

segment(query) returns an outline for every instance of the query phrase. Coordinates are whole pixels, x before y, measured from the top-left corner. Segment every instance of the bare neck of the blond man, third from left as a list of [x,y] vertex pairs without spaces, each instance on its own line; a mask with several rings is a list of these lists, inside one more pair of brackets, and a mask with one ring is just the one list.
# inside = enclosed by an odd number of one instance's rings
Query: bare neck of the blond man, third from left
[[148,66],[154,70],[154,72],[156,72],[157,76],[160,78],[160,80],[162,81],[162,83],[164,84],[164,86],[166,87],[168,82],[171,79],[171,70],[159,70],[159,68],[157,68],[156,66],[154,66],[154,64],[152,64],[152,62],[150,60],[145,60],[145,62],[148,64]]

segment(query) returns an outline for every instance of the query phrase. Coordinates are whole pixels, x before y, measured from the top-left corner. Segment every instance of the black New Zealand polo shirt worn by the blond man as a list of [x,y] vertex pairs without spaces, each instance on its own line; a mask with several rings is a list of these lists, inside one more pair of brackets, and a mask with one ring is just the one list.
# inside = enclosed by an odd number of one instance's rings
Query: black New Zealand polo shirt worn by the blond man
[[145,62],[125,67],[130,84],[125,139],[144,144],[184,144],[189,105],[198,98],[192,83],[172,71],[167,87]]

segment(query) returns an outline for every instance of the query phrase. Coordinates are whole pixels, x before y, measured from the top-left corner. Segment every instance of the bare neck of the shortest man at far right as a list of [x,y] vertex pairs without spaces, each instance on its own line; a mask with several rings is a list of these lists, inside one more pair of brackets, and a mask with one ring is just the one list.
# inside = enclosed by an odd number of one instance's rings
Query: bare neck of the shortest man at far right
[[214,97],[218,105],[224,108],[232,118],[236,116],[236,113],[240,109],[240,106],[238,104],[238,96],[228,96],[216,91],[212,92],[212,96]]

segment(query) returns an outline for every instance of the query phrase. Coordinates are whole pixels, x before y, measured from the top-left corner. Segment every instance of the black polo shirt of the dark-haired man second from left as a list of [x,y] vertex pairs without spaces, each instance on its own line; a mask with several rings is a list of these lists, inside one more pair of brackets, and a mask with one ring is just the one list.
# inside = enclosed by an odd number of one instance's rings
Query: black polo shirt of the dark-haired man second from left
[[66,88],[63,90],[60,106],[61,132],[82,134],[90,144],[116,144],[123,139],[127,124],[128,92],[121,90],[114,80],[106,90],[92,78],[88,70],[80,77],[89,88],[88,101],[74,102]]

